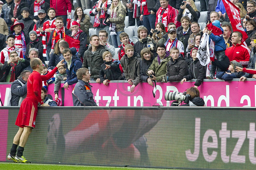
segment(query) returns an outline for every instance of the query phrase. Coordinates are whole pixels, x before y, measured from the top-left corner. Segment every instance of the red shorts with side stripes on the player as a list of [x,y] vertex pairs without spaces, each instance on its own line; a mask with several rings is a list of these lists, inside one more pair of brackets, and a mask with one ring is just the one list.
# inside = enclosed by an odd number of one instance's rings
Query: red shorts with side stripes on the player
[[17,116],[15,125],[21,128],[24,126],[35,128],[37,104],[37,101],[25,98],[20,105],[20,111]]

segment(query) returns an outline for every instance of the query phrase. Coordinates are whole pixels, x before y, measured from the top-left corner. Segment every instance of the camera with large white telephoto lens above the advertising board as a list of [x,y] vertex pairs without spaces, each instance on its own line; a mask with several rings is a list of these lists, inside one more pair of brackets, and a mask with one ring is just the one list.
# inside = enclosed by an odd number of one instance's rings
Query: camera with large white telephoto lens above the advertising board
[[[164,95],[164,99],[166,101],[176,100],[178,101],[178,104],[180,104],[182,101],[184,101],[184,103],[188,103],[190,100],[190,97],[191,96],[187,94],[187,92],[180,93],[178,91],[173,91],[173,92],[166,91]],[[177,104],[177,103],[174,103],[174,104]]]

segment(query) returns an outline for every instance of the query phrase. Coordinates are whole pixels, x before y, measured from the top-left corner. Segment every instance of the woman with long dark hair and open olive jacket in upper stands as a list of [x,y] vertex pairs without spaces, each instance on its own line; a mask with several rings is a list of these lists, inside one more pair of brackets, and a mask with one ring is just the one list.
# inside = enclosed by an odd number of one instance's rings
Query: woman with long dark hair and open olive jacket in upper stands
[[87,14],[84,14],[82,7],[76,7],[74,21],[78,22],[78,24],[80,24],[79,28],[87,34],[87,43],[89,43],[90,17]]

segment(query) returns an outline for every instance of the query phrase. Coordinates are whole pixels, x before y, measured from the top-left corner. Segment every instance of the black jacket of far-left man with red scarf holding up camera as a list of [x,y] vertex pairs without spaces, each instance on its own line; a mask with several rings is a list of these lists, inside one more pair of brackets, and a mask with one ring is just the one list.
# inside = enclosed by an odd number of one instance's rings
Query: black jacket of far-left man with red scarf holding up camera
[[[26,68],[27,66],[29,66],[28,60],[24,59],[23,62],[19,61],[19,64],[17,64],[17,66],[15,66],[15,80],[18,79],[23,68]],[[4,76],[2,77],[2,79],[0,80],[0,82],[6,82],[7,75],[9,74],[11,68],[12,68],[12,66],[8,65],[7,61],[5,61],[4,66],[1,68],[1,70],[5,73],[4,73]]]

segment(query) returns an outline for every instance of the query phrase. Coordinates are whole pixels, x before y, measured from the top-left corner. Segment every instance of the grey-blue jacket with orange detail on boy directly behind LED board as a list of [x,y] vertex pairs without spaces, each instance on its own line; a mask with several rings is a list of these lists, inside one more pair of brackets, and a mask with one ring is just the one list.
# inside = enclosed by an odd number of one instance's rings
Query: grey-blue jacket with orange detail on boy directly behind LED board
[[74,106],[97,106],[93,99],[92,86],[83,80],[78,80],[72,92]]

